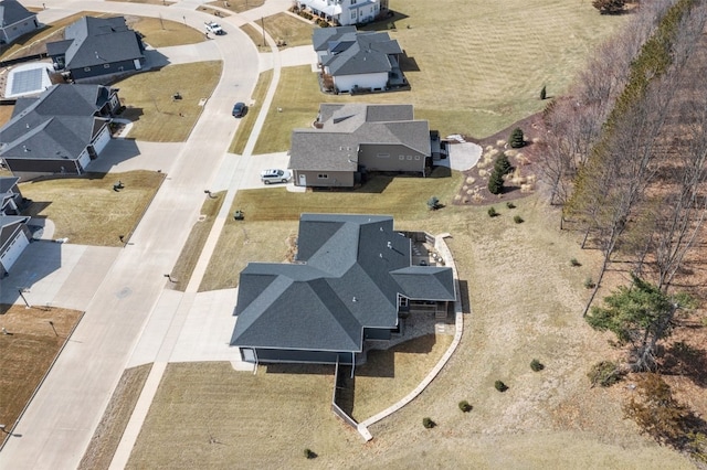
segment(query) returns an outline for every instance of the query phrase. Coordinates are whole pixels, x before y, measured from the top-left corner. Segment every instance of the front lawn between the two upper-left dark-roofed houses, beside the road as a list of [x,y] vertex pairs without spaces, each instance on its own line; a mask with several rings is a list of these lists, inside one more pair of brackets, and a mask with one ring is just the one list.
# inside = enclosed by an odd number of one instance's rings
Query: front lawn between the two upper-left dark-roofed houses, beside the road
[[[122,117],[134,121],[131,139],[183,142],[201,116],[201,99],[209,98],[221,77],[221,61],[168,65],[129,76],[114,86],[127,107]],[[182,99],[173,99],[179,92]]]

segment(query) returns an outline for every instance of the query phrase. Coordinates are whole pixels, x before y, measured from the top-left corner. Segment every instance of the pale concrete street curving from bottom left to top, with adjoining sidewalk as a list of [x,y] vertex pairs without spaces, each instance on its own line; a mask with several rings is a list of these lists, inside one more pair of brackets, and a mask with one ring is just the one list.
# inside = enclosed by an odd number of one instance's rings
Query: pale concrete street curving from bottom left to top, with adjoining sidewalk
[[[168,20],[186,21],[201,30],[203,21],[212,18],[196,11],[199,4],[204,3],[199,0],[183,0],[169,7],[81,0],[28,3],[40,8],[45,3],[46,10],[40,13],[43,22],[76,11],[106,11],[161,15]],[[260,61],[250,39],[236,26],[250,18],[283,11],[288,4],[288,0],[270,0],[260,11],[220,20],[228,31],[214,40],[223,58],[221,81],[189,140],[175,149],[177,152],[169,164],[167,179],[133,234],[130,244],[115,258],[83,320],[12,430],[13,436],[0,452],[0,468],[76,468],[128,363],[136,361],[136,355],[139,356],[138,362],[169,359],[183,328],[186,312],[191,309],[196,288],[190,285],[183,298],[179,297],[181,293],[163,296],[168,292],[165,290],[165,273],[171,270],[197,221],[204,189],[211,188],[213,182],[223,181],[223,175],[219,175],[222,168],[231,171],[225,214],[220,217],[220,225],[223,224],[229,202],[239,188],[239,170],[246,165],[254,136],[267,110],[264,106],[244,156],[228,154],[226,149],[235,131],[231,107],[235,100],[250,100]],[[279,75],[277,53],[274,55],[276,66],[270,99]],[[229,161],[233,158],[238,161]],[[220,225],[218,223],[217,227]],[[198,266],[198,277],[199,269],[203,273],[203,259],[208,258],[214,239],[212,233]],[[150,322],[152,317],[158,317],[159,321]],[[226,337],[230,334],[225,333]],[[235,352],[231,353],[235,355]]]

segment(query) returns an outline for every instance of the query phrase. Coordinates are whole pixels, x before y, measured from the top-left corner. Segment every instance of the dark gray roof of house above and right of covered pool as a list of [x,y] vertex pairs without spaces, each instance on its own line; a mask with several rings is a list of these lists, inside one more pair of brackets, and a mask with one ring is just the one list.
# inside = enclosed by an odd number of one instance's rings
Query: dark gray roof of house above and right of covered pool
[[140,40],[123,17],[84,17],[66,26],[64,41],[46,44],[46,51],[65,54],[66,70],[144,57]]

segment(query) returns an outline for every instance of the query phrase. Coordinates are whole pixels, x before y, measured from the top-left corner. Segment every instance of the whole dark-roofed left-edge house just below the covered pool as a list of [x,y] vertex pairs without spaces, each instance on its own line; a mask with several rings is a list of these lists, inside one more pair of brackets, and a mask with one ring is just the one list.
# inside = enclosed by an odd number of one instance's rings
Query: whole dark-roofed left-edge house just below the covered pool
[[18,98],[0,128],[0,158],[24,180],[81,174],[110,141],[117,89],[102,85],[54,85],[35,98]]

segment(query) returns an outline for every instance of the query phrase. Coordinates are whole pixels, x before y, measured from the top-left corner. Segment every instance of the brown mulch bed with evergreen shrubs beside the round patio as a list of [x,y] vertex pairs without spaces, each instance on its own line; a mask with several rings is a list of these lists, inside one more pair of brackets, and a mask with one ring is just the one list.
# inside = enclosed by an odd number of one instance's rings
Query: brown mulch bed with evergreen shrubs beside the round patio
[[[506,142],[513,129],[519,127],[525,135],[526,145],[520,149],[511,149]],[[484,139],[464,137],[467,142],[474,142],[482,147],[483,153],[478,164],[464,171],[465,182],[460,189],[460,193],[454,197],[456,205],[487,205],[498,201],[514,201],[527,197],[535,193],[537,162],[542,154],[542,114],[538,113],[519,120],[506,129]],[[452,143],[453,146],[454,143]],[[484,156],[495,153],[489,163],[484,164]],[[511,181],[514,173],[508,175],[504,183],[504,192],[492,194],[488,191],[488,177],[494,168],[493,161],[502,152],[506,152],[514,169],[517,169],[517,178]],[[513,157],[511,157],[513,154]],[[520,157],[518,157],[520,154]],[[523,184],[523,186],[521,186]]]

